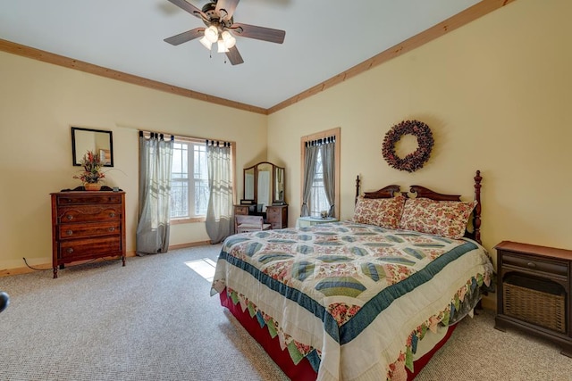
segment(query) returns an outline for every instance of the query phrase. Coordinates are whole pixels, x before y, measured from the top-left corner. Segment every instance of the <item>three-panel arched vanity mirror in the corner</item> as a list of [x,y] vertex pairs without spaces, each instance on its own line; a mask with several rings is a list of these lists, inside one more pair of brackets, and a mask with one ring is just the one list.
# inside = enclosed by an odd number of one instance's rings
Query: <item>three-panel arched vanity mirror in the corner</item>
[[258,162],[244,170],[243,200],[261,205],[260,208],[265,211],[266,206],[286,203],[284,186],[283,167],[272,162]]

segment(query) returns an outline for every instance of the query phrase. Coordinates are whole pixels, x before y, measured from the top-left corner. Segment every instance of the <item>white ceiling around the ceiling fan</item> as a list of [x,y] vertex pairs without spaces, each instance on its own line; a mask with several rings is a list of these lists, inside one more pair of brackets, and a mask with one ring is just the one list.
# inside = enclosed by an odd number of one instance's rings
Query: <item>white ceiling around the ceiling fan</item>
[[[202,8],[207,0],[188,0]],[[270,108],[364,62],[478,0],[242,0],[234,21],[283,29],[282,45],[237,37],[232,66],[167,0],[0,0],[0,38],[243,104]]]

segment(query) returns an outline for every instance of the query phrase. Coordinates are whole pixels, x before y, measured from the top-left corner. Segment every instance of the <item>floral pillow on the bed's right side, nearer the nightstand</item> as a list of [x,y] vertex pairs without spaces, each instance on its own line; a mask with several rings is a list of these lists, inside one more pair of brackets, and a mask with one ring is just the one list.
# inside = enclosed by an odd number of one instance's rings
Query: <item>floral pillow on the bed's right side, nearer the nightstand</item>
[[433,201],[408,199],[401,215],[400,228],[419,233],[458,239],[465,235],[476,201]]

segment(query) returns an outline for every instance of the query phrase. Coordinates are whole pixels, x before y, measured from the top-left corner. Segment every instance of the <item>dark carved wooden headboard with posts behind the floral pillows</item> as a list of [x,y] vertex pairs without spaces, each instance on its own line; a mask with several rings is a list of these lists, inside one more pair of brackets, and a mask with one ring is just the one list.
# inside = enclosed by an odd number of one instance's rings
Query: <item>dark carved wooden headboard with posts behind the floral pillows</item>
[[[479,244],[481,242],[481,181],[483,178],[481,177],[481,171],[476,171],[476,176],[473,178],[475,180],[475,201],[476,206],[473,210],[472,216],[472,223],[473,223],[473,230],[468,231],[466,230],[465,236],[468,238],[474,239]],[[360,186],[360,179],[359,175],[356,178],[356,200],[359,196],[359,186]],[[364,192],[364,198],[391,198],[394,197],[396,194],[400,193],[405,197],[409,198],[409,193],[416,194],[416,197],[425,197],[435,201],[461,201],[460,195],[445,195],[442,193],[434,192],[433,190],[426,188],[425,186],[410,186],[409,192],[401,192],[400,186],[391,185],[385,186],[379,190],[374,192]]]

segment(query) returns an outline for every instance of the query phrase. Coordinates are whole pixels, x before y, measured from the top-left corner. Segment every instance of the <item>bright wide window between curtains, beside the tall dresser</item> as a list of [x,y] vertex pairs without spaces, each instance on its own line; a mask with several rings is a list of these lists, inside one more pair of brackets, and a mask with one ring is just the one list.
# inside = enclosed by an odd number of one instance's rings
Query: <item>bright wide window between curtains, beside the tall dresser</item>
[[209,194],[205,141],[175,138],[171,179],[171,219],[205,217]]

